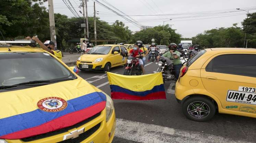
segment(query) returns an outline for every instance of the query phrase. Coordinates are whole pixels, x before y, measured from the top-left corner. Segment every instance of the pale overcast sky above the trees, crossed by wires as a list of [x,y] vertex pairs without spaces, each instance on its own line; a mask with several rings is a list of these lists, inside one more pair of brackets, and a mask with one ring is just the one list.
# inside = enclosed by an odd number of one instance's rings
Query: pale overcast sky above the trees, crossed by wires
[[[98,0],[104,3],[103,0]],[[216,27],[231,27],[233,23],[238,23],[241,27],[241,21],[246,18],[245,11],[236,10],[236,8],[250,9],[249,13],[256,12],[256,0],[105,0],[117,7],[126,15],[137,20],[139,25],[158,26],[171,24],[176,32],[182,37],[193,37],[198,33]],[[74,9],[82,11],[78,6],[79,0],[70,0]],[[53,0],[54,13],[65,14],[74,17],[62,0]],[[88,16],[93,16],[93,1],[88,1]],[[45,3],[48,9],[48,3]],[[109,5],[108,5],[109,6]],[[98,17],[106,22],[120,20],[132,31],[139,31],[130,22],[114,14],[110,10],[96,3],[96,11],[99,11]],[[111,7],[112,8],[112,7]],[[113,8],[112,8],[113,9]],[[119,12],[121,13],[121,12]],[[140,15],[140,16],[134,16]],[[142,16],[141,16],[142,15]],[[144,16],[153,15],[153,16]],[[157,15],[157,16],[156,16]],[[82,17],[82,14],[80,14]],[[215,17],[215,18],[214,18]],[[217,17],[217,18],[216,18]],[[155,20],[152,20],[155,19]],[[172,19],[172,20],[169,20]],[[193,19],[193,20],[191,20]]]

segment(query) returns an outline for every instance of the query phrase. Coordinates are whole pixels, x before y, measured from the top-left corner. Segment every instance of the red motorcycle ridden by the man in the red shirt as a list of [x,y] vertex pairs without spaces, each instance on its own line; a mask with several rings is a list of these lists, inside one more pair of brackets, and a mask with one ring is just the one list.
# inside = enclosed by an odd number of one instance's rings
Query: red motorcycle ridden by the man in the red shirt
[[142,69],[141,69],[141,66],[139,65],[139,59],[142,59],[142,57],[139,57],[139,58],[134,58],[132,56],[127,57],[123,75],[127,75],[127,76],[142,75]]

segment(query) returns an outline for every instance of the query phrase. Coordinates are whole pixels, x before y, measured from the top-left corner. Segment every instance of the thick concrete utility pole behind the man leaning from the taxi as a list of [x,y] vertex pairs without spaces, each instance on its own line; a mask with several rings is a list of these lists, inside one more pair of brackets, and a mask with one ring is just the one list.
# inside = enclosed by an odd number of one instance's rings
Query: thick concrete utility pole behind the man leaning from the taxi
[[54,42],[54,45],[55,45],[54,47],[57,48],[55,21],[54,21],[54,12],[53,12],[53,0],[48,0],[48,6],[49,6],[49,22],[50,22],[51,41]]

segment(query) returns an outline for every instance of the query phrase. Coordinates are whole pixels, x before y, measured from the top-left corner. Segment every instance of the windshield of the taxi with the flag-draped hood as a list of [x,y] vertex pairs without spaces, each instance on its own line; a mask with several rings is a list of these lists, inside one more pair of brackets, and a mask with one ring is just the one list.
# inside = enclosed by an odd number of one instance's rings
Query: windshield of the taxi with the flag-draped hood
[[0,91],[14,85],[76,79],[58,60],[44,52],[0,53]]

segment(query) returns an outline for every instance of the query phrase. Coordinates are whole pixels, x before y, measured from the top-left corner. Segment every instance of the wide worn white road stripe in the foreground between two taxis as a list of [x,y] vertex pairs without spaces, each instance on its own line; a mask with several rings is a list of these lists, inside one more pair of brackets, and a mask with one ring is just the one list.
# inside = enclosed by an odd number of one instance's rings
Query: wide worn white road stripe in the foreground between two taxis
[[184,131],[153,124],[117,118],[115,137],[143,143],[247,143],[214,136],[212,134]]

